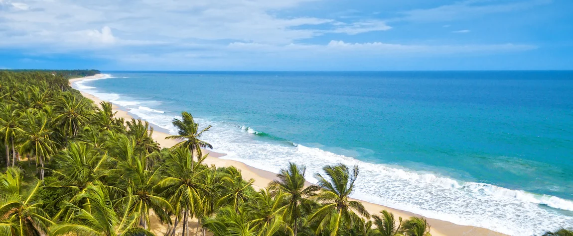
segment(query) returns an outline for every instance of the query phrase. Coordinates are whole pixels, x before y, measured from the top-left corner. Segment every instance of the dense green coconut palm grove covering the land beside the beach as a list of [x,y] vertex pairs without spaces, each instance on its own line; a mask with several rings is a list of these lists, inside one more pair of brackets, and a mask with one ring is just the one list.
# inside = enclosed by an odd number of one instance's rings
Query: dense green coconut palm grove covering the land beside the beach
[[154,218],[164,235],[430,235],[423,218],[350,199],[357,166],[325,166],[306,186],[291,163],[257,191],[240,170],[204,163],[211,126],[191,114],[161,149],[147,122],[115,118],[62,78],[0,71],[0,235],[155,235]]

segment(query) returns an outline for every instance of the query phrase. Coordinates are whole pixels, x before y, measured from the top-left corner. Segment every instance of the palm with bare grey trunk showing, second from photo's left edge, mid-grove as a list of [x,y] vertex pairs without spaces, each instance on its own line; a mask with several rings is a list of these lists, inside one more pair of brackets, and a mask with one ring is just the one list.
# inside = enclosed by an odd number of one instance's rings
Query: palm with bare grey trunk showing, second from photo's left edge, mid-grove
[[53,131],[49,129],[47,114],[44,111],[28,110],[23,115],[21,127],[20,153],[28,152],[36,156],[36,161],[40,160],[40,179],[44,180],[44,158],[54,153],[56,145],[51,139]]

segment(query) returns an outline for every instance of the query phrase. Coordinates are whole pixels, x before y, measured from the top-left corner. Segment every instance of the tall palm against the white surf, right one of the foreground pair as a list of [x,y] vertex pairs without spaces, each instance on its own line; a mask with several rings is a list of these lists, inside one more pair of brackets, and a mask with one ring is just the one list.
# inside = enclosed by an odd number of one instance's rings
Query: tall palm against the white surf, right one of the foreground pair
[[312,198],[324,205],[310,215],[309,221],[319,222],[316,229],[317,234],[327,229],[331,232],[331,236],[337,236],[344,223],[347,227],[352,227],[359,215],[370,218],[370,214],[364,209],[362,203],[349,199],[354,192],[354,182],[359,173],[358,166],[354,166],[352,173],[348,166],[343,164],[325,166],[323,171],[328,179],[321,174],[315,174],[315,178],[318,179],[318,184],[322,189],[319,194]]

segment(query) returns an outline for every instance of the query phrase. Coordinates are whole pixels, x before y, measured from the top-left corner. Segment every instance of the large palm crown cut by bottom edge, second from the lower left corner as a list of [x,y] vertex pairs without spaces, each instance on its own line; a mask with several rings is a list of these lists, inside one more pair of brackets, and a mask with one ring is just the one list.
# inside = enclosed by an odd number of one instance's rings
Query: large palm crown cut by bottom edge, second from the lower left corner
[[[78,206],[83,199],[88,199],[87,203]],[[64,208],[72,212],[72,218],[53,227],[54,236],[155,236],[138,227],[138,217],[128,214],[125,206],[114,207],[108,191],[101,185],[89,185],[84,193],[74,197]],[[116,209],[120,211],[116,212]]]

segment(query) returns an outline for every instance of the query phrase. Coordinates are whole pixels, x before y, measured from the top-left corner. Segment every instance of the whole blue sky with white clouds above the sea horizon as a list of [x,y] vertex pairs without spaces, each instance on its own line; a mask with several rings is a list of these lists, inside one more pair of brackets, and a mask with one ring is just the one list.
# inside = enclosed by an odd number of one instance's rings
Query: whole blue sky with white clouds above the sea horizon
[[0,0],[0,68],[571,70],[572,0]]

